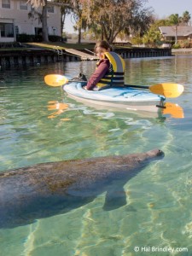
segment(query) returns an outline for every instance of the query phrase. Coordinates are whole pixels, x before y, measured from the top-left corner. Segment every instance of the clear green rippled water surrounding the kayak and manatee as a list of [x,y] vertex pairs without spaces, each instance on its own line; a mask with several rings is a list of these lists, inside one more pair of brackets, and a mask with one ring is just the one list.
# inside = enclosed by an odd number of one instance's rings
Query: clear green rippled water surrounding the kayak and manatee
[[[103,193],[71,212],[0,230],[0,255],[192,255],[191,66],[192,55],[126,61],[126,83],[170,81],[185,86],[182,96],[167,99],[183,108],[183,119],[96,110],[44,84],[48,73],[89,76],[94,62],[0,70],[1,172],[152,148],[166,154],[125,184],[124,207],[104,211]],[[152,252],[152,247],[166,251]],[[187,248],[188,253],[171,254],[167,248]]]

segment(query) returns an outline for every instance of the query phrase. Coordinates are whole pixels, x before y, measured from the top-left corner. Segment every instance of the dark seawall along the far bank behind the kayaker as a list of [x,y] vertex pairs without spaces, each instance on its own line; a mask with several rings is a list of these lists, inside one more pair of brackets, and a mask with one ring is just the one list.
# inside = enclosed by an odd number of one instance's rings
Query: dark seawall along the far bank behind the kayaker
[[[77,47],[78,49],[78,47]],[[93,51],[93,49],[92,49]],[[172,49],[152,48],[116,48],[114,49],[124,59],[147,58],[158,56],[172,56]],[[192,51],[191,51],[192,52]],[[82,55],[87,55],[83,58]],[[18,67],[36,64],[49,64],[57,61],[95,61],[94,55],[87,52],[87,49],[79,49],[75,54],[67,49],[44,49],[44,48],[21,48],[21,49],[0,49],[0,67]]]

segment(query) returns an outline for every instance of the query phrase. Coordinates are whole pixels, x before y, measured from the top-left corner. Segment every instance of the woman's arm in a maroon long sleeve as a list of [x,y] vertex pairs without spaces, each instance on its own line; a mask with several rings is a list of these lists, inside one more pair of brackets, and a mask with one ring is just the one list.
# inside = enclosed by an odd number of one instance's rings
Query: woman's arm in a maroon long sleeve
[[96,68],[96,71],[91,75],[87,85],[85,86],[86,90],[92,90],[96,84],[104,77],[104,75],[108,72],[109,61],[107,59],[103,59],[100,61],[99,66]]

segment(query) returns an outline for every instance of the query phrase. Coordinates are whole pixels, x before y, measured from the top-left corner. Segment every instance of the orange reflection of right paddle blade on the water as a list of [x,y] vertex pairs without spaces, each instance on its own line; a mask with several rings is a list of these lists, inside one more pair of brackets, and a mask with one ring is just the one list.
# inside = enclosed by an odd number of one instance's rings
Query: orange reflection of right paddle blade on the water
[[163,109],[163,114],[167,114],[167,113],[171,114],[172,118],[175,118],[175,119],[184,118],[183,108],[181,108],[177,104],[174,104],[172,102],[166,102],[164,106],[166,108]]

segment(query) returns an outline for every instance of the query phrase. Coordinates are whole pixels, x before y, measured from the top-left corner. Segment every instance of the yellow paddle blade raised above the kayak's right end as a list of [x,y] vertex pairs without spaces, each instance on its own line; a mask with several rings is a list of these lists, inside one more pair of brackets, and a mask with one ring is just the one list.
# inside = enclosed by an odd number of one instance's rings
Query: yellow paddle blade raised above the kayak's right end
[[154,94],[175,98],[183,93],[184,87],[182,84],[162,83],[149,86],[149,90]]

